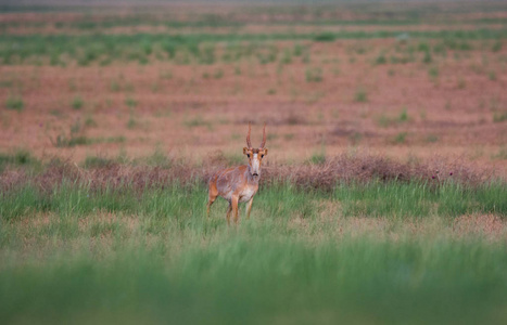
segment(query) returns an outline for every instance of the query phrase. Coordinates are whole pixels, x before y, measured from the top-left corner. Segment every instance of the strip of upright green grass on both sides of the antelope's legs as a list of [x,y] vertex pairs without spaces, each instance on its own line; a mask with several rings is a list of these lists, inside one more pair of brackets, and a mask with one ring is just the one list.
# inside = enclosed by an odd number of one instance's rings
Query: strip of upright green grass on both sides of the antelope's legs
[[[155,152],[153,157],[153,159],[156,159],[156,161],[154,160],[155,164],[160,162],[160,152]],[[74,181],[68,181],[68,184],[73,183]],[[97,211],[150,214],[170,210],[173,212],[180,211],[190,218],[190,216],[198,216],[199,211],[202,212],[202,207],[198,202],[202,204],[206,197],[205,188],[198,183],[191,187],[181,187],[181,185],[175,183],[166,186],[165,190],[153,188],[147,191],[141,196],[138,196],[132,185],[128,183],[122,184],[116,190],[106,186],[99,192],[92,191],[86,183],[73,186],[68,184],[64,182],[63,187],[58,187],[50,194],[38,193],[34,186],[29,185],[4,193],[0,197],[0,216],[2,216],[3,220],[11,220],[23,213],[36,211],[56,213],[67,211],[77,216],[86,216]],[[342,217],[350,216],[351,207],[354,206],[367,208],[357,210],[360,212],[352,213],[353,216],[369,217],[431,217],[442,213],[456,217],[474,212],[507,216],[507,202],[503,199],[507,190],[503,183],[470,187],[447,181],[440,186],[435,187],[435,185],[436,182],[338,184],[332,194],[327,194],[319,191],[303,193],[290,184],[281,184],[264,188],[263,193],[265,195],[259,195],[257,204],[272,206],[278,209],[277,212],[274,212],[279,213],[282,210],[292,209],[291,205],[280,205],[279,199],[284,203],[303,200],[308,202],[309,205],[313,205],[313,202],[335,199],[341,206],[341,210],[337,212],[337,216]],[[187,207],[182,203],[174,200],[183,199],[183,197],[189,204],[192,200],[195,202]],[[362,202],[363,204],[360,204]],[[403,204],[404,208],[397,206],[397,203]],[[379,204],[381,205],[379,206]],[[194,210],[193,208],[198,206],[199,209]],[[291,210],[291,213],[296,211],[297,208]],[[275,214],[270,217],[277,217]],[[289,216],[286,217],[289,218]]]

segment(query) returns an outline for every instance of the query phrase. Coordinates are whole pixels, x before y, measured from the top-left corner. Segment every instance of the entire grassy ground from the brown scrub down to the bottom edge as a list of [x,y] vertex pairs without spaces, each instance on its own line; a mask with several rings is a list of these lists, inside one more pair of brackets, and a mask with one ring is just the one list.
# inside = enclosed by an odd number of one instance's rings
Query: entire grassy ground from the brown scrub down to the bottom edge
[[456,233],[453,219],[507,216],[505,195],[500,183],[372,182],[328,194],[279,184],[261,188],[250,221],[242,210],[227,227],[224,200],[205,219],[199,183],[27,185],[0,196],[0,318],[502,323],[506,242]]

